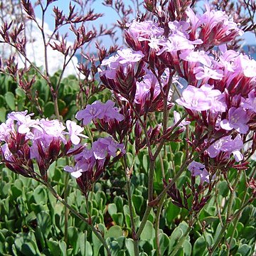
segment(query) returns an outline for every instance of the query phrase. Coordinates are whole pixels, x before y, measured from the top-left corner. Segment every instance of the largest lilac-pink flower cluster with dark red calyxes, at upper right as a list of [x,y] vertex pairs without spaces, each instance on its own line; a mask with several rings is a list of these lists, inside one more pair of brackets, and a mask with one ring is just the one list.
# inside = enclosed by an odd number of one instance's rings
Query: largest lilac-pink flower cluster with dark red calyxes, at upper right
[[[202,161],[220,169],[231,154],[235,160],[228,166],[235,166],[235,161],[243,164],[244,142],[256,119],[256,61],[225,45],[243,31],[225,12],[210,10],[208,5],[204,14],[188,8],[178,20],[164,9],[154,15],[154,22],[142,18],[127,24],[124,37],[130,48],[103,61],[107,66],[101,73],[103,84],[144,117],[147,112],[171,109],[176,97],[174,83],[184,85],[176,103],[185,107],[189,116],[178,124],[178,131],[196,121],[188,142],[192,151],[206,151]],[[176,124],[180,117],[173,113]],[[174,137],[168,134],[173,132],[171,127],[162,135],[160,129],[157,141],[161,136]],[[138,123],[135,131],[141,131]],[[138,137],[137,148],[142,145]],[[199,172],[193,171],[193,175]],[[204,173],[201,176],[203,181],[208,181],[206,177]]]

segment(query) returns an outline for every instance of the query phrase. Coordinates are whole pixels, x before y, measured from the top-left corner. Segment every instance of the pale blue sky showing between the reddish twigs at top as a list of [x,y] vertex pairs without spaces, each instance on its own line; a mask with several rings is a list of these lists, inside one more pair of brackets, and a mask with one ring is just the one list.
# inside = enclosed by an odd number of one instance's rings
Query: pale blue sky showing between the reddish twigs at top
[[[84,1],[86,1],[86,0],[84,0]],[[35,2],[35,0],[32,0],[32,3],[33,2]],[[127,1],[127,2],[129,2],[129,1]],[[50,28],[51,31],[53,31],[53,28],[55,27],[55,21],[53,18],[53,11],[52,11],[53,6],[58,6],[60,10],[63,10],[64,14],[68,14],[69,3],[70,3],[70,1],[68,1],[68,0],[58,0],[58,1],[53,2],[53,4],[50,4],[48,11],[46,13],[46,23],[48,24],[48,27]],[[204,3],[206,3],[206,1],[199,1],[198,8],[201,8]],[[74,4],[74,2],[72,2],[72,4]],[[102,4],[102,0],[96,0],[95,3],[92,4],[92,9],[95,10],[95,13],[104,14],[104,16],[101,18],[98,18],[97,21],[93,21],[93,24],[96,27],[99,27],[100,23],[102,23],[102,24],[116,23],[117,20],[119,19],[118,15],[115,11],[113,11],[110,7],[106,7]],[[41,10],[39,7],[36,8],[36,16],[38,18],[41,17]],[[63,32],[63,33],[68,32],[69,40],[73,41],[72,33],[70,33],[68,28],[69,28],[69,26],[65,26],[60,32]],[[122,44],[122,33],[120,31],[118,31],[117,36],[119,37],[118,43]],[[249,45],[256,44],[255,36],[253,33],[247,32],[242,37],[245,38],[246,44],[249,44]],[[102,41],[105,44],[105,46],[106,47],[111,46],[112,41],[110,41],[109,38],[106,38],[106,39],[104,40],[104,38],[102,38]]]

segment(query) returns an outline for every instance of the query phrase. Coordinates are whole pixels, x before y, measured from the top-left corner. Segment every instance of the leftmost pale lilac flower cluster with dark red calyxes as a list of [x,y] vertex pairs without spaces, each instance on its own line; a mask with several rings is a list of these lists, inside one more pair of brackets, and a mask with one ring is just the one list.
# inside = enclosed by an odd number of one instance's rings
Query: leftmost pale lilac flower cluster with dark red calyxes
[[[31,119],[31,116],[27,110],[11,112],[0,125],[1,161],[18,174],[36,178],[32,161],[36,159],[41,176],[47,178],[46,171],[53,161],[83,149],[80,137],[86,138],[81,134],[84,128],[70,120],[65,127],[56,119]],[[68,154],[72,144],[77,148]]]

